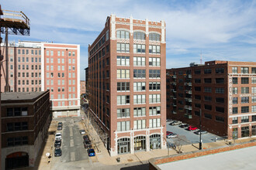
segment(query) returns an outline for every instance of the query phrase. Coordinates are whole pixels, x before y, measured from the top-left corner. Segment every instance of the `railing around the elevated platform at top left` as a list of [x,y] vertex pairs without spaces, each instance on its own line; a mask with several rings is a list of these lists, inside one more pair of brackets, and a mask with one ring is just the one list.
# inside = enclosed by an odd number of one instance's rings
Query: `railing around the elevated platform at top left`
[[3,12],[3,18],[5,21],[12,21],[12,22],[24,22],[26,26],[30,26],[30,20],[29,18],[23,13],[23,12],[16,12],[16,11],[10,11],[10,10],[2,10]]

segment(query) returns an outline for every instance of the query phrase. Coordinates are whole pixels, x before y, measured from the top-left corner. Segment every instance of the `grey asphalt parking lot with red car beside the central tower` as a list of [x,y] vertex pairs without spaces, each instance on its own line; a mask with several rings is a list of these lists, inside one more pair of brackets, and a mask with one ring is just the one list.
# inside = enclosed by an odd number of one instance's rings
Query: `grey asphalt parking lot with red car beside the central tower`
[[[189,144],[195,144],[199,143],[199,134],[195,134],[194,132],[197,131],[188,131],[186,128],[180,128],[178,125],[171,126],[169,125],[171,121],[166,122],[166,131],[171,131],[173,133],[178,134],[178,138],[167,138],[167,141],[169,143],[175,143],[175,141],[178,141],[181,143],[181,145],[189,145]],[[217,136],[216,134],[202,134],[202,143],[209,143],[216,140],[222,140],[220,136]]]

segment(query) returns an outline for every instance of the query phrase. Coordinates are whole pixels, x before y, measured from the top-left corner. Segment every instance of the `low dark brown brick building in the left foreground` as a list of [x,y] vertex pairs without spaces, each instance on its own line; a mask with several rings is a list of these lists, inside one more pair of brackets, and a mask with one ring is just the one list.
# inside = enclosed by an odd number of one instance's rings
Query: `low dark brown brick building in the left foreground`
[[50,126],[50,91],[1,93],[2,167],[34,166]]

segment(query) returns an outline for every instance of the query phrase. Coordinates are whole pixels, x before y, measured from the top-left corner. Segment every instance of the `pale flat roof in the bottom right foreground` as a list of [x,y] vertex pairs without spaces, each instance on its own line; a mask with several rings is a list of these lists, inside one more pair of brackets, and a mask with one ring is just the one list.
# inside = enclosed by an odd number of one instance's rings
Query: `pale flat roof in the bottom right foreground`
[[177,162],[159,164],[162,170],[196,169],[196,170],[251,170],[256,169],[256,146],[224,151],[213,155],[184,159]]

